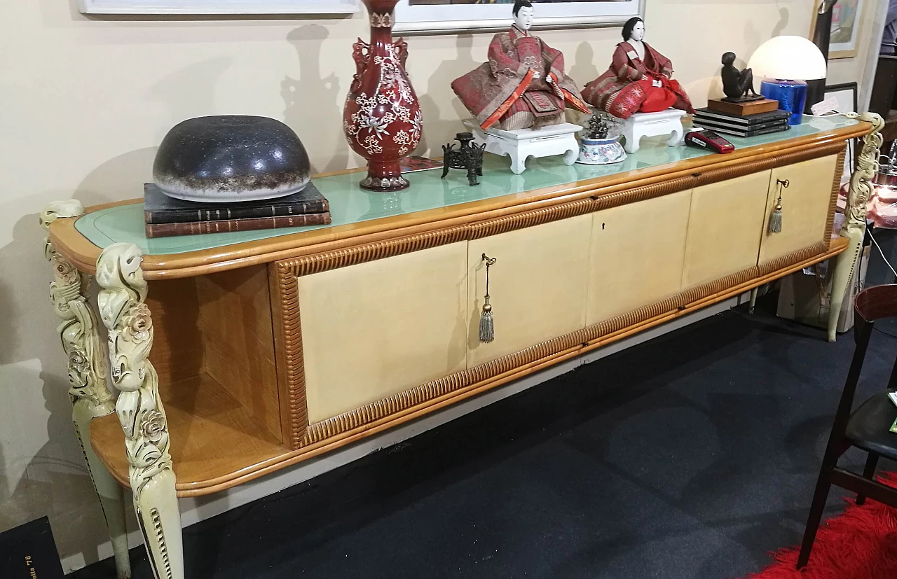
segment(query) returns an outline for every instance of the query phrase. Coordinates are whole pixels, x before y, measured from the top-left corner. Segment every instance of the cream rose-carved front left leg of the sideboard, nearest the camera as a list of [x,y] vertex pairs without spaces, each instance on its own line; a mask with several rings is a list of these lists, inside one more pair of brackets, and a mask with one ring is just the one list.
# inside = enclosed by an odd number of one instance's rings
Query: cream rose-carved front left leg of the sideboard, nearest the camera
[[128,471],[137,521],[158,579],[183,579],[184,555],[169,431],[159,397],[159,376],[147,359],[152,319],[144,304],[143,254],[128,243],[106,247],[97,260],[100,318],[109,329],[115,408],[125,431]]

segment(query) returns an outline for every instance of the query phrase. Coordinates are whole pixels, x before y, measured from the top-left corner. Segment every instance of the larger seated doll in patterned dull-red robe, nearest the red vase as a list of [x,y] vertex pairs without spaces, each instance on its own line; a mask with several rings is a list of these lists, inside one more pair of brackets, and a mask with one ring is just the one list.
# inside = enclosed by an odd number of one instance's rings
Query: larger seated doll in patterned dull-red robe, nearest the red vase
[[513,131],[564,122],[569,104],[591,113],[576,82],[563,71],[563,55],[529,33],[533,4],[516,0],[514,25],[489,45],[489,62],[455,79],[451,88],[476,122]]

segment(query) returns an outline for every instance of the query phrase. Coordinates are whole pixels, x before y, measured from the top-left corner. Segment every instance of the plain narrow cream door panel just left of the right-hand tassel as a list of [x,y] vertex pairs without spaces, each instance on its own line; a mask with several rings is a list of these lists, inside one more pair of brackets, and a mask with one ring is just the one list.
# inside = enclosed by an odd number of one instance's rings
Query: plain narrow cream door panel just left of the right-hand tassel
[[770,171],[692,189],[683,290],[757,264]]

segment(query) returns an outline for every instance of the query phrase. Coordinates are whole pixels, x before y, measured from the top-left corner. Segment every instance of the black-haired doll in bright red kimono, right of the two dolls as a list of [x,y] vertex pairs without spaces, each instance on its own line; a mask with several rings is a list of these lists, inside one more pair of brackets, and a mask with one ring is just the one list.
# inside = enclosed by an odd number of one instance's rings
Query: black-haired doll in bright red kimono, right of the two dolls
[[693,113],[692,101],[682,85],[670,78],[673,63],[644,38],[645,22],[639,17],[626,22],[623,42],[614,50],[610,70],[586,85],[583,98],[619,118],[670,107]]

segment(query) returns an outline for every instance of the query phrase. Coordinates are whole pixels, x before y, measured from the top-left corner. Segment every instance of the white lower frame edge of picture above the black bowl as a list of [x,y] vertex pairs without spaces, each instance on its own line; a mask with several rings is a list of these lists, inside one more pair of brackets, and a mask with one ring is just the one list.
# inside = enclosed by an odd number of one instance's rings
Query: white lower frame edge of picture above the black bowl
[[78,0],[84,14],[346,14],[356,0]]

